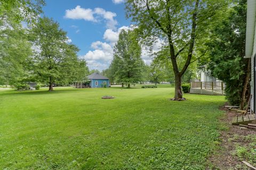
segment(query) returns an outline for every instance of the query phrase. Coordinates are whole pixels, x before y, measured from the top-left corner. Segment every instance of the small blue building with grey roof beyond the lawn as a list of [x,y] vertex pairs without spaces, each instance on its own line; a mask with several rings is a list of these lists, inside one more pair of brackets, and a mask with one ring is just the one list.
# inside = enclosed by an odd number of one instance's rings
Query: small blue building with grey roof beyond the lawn
[[109,87],[109,79],[99,73],[92,73],[88,75],[91,88]]

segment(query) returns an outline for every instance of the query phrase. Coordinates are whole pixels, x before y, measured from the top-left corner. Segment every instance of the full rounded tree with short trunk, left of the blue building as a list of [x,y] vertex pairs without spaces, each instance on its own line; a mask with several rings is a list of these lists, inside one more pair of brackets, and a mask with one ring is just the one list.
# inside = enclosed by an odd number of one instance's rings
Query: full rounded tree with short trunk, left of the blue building
[[74,64],[77,63],[78,48],[68,44],[67,33],[49,18],[40,18],[30,30],[30,40],[35,55],[31,57],[31,69],[37,81],[48,82],[49,91],[54,83],[71,81]]

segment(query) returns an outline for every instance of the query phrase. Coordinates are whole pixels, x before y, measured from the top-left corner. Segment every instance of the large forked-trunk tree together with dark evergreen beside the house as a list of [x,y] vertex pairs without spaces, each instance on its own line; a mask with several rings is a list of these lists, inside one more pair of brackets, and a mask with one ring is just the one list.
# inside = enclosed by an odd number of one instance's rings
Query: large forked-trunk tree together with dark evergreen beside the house
[[244,107],[250,96],[250,60],[243,58],[246,0],[127,0],[126,16],[142,45],[164,42],[154,74],[162,72],[159,63],[172,69],[164,74],[174,74],[174,100],[182,99],[182,79],[197,66],[225,82],[232,105]]

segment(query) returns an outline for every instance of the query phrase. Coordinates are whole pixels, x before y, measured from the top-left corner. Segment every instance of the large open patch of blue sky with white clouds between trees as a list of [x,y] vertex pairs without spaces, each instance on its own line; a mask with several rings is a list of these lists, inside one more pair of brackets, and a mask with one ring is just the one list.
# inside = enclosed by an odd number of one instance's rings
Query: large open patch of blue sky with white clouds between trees
[[107,69],[121,29],[129,29],[124,0],[46,0],[44,15],[60,23],[90,69]]

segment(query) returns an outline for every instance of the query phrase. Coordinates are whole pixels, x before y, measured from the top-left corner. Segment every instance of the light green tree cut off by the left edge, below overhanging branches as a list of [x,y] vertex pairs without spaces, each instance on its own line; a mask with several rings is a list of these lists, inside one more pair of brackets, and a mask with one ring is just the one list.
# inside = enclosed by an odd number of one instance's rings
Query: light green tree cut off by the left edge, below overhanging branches
[[14,85],[26,77],[26,59],[32,55],[25,30],[0,31],[0,84]]

